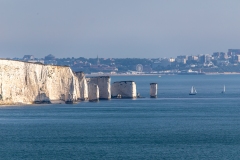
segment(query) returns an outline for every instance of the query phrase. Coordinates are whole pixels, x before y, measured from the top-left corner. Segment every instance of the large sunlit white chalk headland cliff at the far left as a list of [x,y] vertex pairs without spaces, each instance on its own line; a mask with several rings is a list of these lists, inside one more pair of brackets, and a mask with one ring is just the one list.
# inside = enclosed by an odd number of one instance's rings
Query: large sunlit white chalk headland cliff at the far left
[[[78,77],[69,67],[0,60],[0,104],[77,100]],[[81,78],[80,78],[81,79]]]

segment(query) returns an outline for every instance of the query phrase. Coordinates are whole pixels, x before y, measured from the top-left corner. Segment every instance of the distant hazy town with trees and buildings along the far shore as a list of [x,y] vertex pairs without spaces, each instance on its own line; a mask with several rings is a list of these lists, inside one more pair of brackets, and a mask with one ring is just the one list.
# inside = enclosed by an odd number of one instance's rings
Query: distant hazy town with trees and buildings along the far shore
[[24,55],[13,60],[69,66],[86,74],[237,74],[240,73],[240,49],[201,55],[179,55],[175,58],[44,58]]

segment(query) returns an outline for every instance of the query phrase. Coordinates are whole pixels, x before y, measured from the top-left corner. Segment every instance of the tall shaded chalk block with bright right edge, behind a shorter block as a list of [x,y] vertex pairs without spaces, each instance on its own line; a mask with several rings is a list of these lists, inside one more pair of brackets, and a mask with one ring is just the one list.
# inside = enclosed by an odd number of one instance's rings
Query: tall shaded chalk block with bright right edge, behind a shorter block
[[99,87],[99,99],[111,99],[111,78],[109,76],[90,77],[89,83]]

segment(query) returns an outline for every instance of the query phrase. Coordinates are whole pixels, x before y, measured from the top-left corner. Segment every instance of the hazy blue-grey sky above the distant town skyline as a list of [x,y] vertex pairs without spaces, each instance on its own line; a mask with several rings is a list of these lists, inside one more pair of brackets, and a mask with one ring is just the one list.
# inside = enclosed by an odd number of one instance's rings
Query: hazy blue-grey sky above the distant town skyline
[[0,0],[0,57],[159,58],[240,48],[240,0]]

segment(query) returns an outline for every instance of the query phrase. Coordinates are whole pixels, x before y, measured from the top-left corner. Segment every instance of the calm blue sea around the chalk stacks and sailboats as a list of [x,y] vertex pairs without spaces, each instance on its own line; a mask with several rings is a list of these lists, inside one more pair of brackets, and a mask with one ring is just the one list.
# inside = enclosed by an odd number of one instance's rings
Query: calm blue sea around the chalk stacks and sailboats
[[0,107],[0,159],[240,159],[240,75],[119,80],[146,98]]

